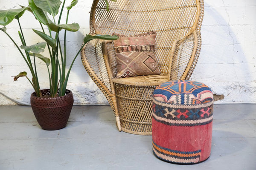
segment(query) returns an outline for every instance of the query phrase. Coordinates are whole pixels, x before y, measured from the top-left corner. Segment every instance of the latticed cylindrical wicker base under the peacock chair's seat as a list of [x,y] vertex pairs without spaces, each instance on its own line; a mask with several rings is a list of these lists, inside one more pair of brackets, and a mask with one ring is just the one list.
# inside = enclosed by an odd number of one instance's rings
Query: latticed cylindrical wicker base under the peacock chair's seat
[[[131,81],[122,81],[126,79],[128,78],[113,81],[121,129],[137,135],[152,135],[152,94],[156,86],[163,82],[143,86],[131,85]],[[167,77],[164,80],[167,81]],[[125,84],[126,82],[129,83]]]

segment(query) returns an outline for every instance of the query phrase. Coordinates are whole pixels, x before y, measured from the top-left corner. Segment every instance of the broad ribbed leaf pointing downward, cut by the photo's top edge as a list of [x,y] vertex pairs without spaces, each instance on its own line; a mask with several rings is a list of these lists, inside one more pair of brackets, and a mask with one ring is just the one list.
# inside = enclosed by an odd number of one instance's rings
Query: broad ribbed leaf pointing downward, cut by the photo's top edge
[[35,5],[43,11],[47,11],[53,17],[58,14],[61,6],[60,0],[34,0]]

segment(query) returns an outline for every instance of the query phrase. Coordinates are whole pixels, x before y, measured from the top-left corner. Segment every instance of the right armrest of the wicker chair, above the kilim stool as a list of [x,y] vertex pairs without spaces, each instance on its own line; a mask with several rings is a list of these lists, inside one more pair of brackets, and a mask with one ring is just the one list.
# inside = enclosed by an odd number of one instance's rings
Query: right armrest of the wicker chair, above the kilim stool
[[175,41],[172,46],[172,57],[170,60],[170,80],[188,80],[194,71],[200,51],[200,31],[195,30],[182,40]]

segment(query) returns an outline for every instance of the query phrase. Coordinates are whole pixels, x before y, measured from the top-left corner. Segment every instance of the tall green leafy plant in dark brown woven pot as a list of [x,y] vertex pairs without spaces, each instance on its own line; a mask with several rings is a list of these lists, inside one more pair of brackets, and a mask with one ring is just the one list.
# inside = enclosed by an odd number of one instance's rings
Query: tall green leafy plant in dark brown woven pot
[[[108,1],[105,0],[105,2],[108,10]],[[78,0],[73,0],[70,6],[66,7],[67,15],[64,24],[61,24],[60,21],[65,6],[65,0],[63,2],[60,0],[28,0],[28,3],[29,6],[27,7],[20,6],[21,8],[18,9],[1,10],[0,25],[4,27],[0,28],[0,30],[15,44],[32,74],[32,79],[29,79],[25,71],[20,72],[20,74],[14,77],[14,81],[20,77],[26,77],[34,88],[35,92],[31,94],[31,106],[39,125],[45,130],[57,130],[66,126],[73,106],[73,94],[70,90],[66,89],[66,87],[70,70],[77,56],[80,54],[81,49],[88,41],[93,39],[116,40],[118,37],[99,34],[95,36],[86,35],[84,37],[84,45],[82,45],[75,57],[73,57],[70,68],[66,70],[66,34],[67,31],[76,32],[79,30],[79,24],[68,23],[68,17],[70,9],[78,3]],[[32,30],[41,37],[44,42],[38,42],[33,45],[26,43],[19,20],[25,11],[30,11],[35,16],[35,19],[38,20],[41,31]],[[58,20],[56,20],[57,14],[59,14]],[[18,34],[22,44],[21,46],[17,45],[17,42],[12,39],[5,27],[14,19],[17,20],[20,28]],[[64,30],[64,44],[61,44],[59,38],[61,30]],[[40,54],[46,47],[49,51],[49,56],[47,57]],[[41,90],[40,88],[35,64],[37,58],[44,61],[47,66],[49,89]]]

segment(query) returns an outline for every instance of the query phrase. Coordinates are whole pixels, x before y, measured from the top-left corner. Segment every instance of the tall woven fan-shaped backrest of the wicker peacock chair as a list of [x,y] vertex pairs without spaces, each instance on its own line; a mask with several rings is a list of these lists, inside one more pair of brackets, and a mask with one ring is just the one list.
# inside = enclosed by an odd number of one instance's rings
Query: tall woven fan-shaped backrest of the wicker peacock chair
[[132,36],[156,31],[156,56],[162,74],[169,74],[172,44],[195,30],[200,31],[201,0],[108,1],[110,11],[106,10],[105,0],[94,0],[90,34]]

